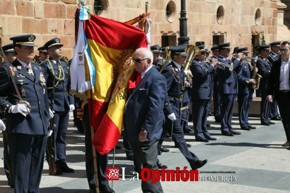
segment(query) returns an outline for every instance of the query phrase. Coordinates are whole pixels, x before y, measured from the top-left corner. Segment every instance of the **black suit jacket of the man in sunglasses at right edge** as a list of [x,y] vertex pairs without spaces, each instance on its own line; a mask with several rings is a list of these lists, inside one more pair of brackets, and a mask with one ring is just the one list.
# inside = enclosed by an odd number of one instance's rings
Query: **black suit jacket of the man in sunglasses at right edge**
[[[279,60],[274,61],[273,67],[269,75],[269,81],[268,81],[267,95],[272,95],[272,96],[275,95],[276,98],[279,98],[281,62],[282,62],[281,58]],[[289,79],[290,79],[290,73],[289,73]]]

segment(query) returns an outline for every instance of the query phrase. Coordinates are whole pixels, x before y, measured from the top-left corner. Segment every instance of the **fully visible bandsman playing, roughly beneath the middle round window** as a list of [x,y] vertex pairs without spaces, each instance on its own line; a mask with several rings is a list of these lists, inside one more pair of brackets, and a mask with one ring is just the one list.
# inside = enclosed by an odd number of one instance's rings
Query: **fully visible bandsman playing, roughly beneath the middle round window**
[[241,65],[242,53],[239,53],[234,63],[228,59],[230,53],[230,43],[222,43],[218,45],[220,56],[218,62],[224,64],[224,70],[217,68],[217,76],[219,81],[219,93],[221,97],[221,109],[220,109],[220,125],[222,135],[234,136],[240,135],[241,132],[233,130],[231,126],[233,108],[235,105],[235,99],[238,94],[238,81],[236,75],[236,68]]

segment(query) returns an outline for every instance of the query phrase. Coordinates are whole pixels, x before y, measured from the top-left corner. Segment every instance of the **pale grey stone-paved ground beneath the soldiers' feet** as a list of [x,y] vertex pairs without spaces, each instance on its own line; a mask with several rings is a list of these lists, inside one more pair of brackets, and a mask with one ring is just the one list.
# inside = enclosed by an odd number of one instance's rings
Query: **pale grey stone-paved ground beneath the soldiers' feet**
[[[79,134],[73,126],[73,117],[70,114],[70,125],[66,146],[67,162],[75,169],[75,173],[64,173],[61,176],[49,176],[48,164],[44,162],[44,170],[40,183],[41,193],[88,193],[88,182],[85,168],[84,135]],[[240,130],[238,117],[233,117],[233,128],[242,132],[234,137],[222,136],[219,123],[215,123],[210,116],[208,128],[217,141],[202,143],[195,141],[193,133],[186,134],[189,148],[201,160],[209,162],[200,168],[199,177],[209,181],[162,181],[164,192],[289,192],[290,191],[290,150],[282,147],[286,141],[285,132],[281,121],[275,121],[276,125],[262,126],[260,119],[251,117],[249,122],[256,126],[256,130]],[[192,123],[190,123],[192,127]],[[2,138],[2,135],[0,135]],[[0,139],[0,152],[3,152],[3,140]],[[134,172],[132,161],[126,159],[122,137],[118,143],[122,149],[116,150],[115,167],[126,167],[125,178],[130,179]],[[170,152],[158,156],[162,164],[168,165],[168,169],[189,166],[181,152],[174,148],[174,142],[166,138],[163,146]],[[1,155],[3,155],[1,153]],[[0,156],[3,157],[3,156]],[[109,167],[112,166],[113,152],[109,153]],[[190,167],[189,167],[190,168]],[[93,170],[93,168],[92,168]],[[235,172],[228,174],[201,173],[201,172]],[[201,177],[203,176],[203,177]],[[236,179],[236,181],[220,181]],[[229,176],[226,178],[226,176]],[[111,182],[109,184],[111,185]],[[142,192],[141,181],[114,181],[115,192]],[[8,187],[3,170],[3,160],[0,160],[0,192],[14,192]]]

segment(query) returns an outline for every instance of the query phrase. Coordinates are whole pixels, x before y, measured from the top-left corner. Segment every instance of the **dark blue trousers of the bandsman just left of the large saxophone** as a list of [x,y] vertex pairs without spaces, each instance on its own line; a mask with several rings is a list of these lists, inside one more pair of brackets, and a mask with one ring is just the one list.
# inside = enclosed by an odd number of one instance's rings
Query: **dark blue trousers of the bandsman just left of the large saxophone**
[[238,109],[239,109],[239,122],[241,128],[248,127],[249,123],[249,108],[253,101],[253,92],[248,94],[238,94]]

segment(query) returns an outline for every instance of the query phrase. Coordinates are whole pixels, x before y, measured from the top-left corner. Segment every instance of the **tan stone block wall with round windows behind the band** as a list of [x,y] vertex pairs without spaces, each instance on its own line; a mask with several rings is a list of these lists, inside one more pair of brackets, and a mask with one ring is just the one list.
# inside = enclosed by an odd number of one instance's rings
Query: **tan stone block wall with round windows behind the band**
[[[100,16],[117,21],[128,21],[145,10],[146,0],[101,0],[103,10]],[[173,35],[175,42],[179,34],[180,0],[148,0],[153,24],[151,41],[162,44],[162,35]],[[166,6],[171,5],[172,14],[166,17]],[[88,0],[93,12],[94,0]],[[217,21],[216,13],[223,6],[223,19]],[[32,33],[36,43],[42,46],[46,41],[59,37],[64,44],[63,55],[71,57],[74,46],[74,22],[70,23],[78,6],[75,0],[1,0],[0,36],[2,43],[10,43],[15,35]],[[261,18],[255,22],[255,12],[260,9]],[[231,46],[251,48],[252,35],[264,31],[266,43],[277,39],[276,0],[186,0],[188,36],[190,43],[205,41],[213,45],[213,35],[224,35],[224,42]],[[64,29],[64,23],[70,25]],[[176,38],[174,37],[176,35]],[[171,37],[172,40],[172,37]]]

